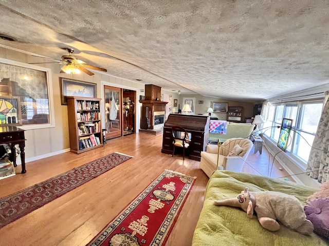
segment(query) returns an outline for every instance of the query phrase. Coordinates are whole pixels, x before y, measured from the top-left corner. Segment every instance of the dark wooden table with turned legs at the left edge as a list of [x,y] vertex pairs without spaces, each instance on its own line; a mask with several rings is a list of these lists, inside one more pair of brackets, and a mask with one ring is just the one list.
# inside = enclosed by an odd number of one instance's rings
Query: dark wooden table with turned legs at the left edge
[[17,167],[15,145],[20,146],[22,173],[26,173],[24,152],[25,140],[23,129],[15,126],[0,126],[0,145],[7,144],[10,146],[14,167]]

